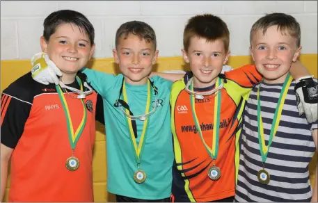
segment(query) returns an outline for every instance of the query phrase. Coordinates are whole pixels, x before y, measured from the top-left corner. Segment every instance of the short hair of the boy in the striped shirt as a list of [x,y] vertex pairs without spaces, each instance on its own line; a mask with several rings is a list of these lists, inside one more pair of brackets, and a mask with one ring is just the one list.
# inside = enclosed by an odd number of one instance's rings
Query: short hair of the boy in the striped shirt
[[285,13],[271,13],[258,19],[251,28],[250,43],[258,30],[261,30],[264,35],[271,26],[277,26],[282,34],[287,31],[289,35],[296,38],[297,47],[301,46],[301,26],[292,15]]

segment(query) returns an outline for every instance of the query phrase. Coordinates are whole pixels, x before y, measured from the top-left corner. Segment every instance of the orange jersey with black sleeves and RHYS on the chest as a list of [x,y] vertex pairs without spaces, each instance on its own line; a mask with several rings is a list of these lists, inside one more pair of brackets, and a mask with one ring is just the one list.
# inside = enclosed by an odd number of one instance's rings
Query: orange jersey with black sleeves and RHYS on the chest
[[[69,86],[79,88],[77,81]],[[80,99],[72,98],[74,93],[69,94],[64,96],[75,131],[84,107]],[[97,102],[94,91],[84,99],[86,124],[74,152],[80,167],[70,172],[65,161],[72,156],[72,150],[55,85],[37,83],[29,72],[3,90],[1,144],[14,149],[10,202],[93,202],[95,119],[104,122],[102,99],[98,98]]]

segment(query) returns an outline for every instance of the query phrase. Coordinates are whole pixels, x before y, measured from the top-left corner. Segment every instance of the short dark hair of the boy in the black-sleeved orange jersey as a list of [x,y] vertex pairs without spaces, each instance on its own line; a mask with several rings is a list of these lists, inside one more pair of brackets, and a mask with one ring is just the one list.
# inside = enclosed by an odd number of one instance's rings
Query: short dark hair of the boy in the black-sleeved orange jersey
[[90,45],[94,44],[95,30],[93,24],[83,14],[75,10],[58,10],[45,18],[43,37],[47,42],[61,24],[77,25],[81,32],[84,31],[88,35]]

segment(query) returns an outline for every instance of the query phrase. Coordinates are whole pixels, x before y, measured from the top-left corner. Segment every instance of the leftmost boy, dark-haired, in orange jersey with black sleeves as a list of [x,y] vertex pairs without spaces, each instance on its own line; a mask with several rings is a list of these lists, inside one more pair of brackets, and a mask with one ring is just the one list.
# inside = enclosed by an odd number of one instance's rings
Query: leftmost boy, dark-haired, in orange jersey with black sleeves
[[73,10],[51,13],[43,25],[42,51],[63,76],[60,86],[34,81],[46,66],[41,54],[33,72],[3,90],[1,200],[11,159],[9,202],[93,202],[97,94],[78,71],[93,55],[94,28]]

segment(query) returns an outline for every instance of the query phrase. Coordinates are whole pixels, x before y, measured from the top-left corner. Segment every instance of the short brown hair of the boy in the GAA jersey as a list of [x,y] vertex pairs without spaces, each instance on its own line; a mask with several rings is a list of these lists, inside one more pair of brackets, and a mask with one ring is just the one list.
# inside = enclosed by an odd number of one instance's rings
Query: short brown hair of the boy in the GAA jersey
[[191,38],[205,38],[208,42],[221,39],[225,51],[228,51],[230,44],[230,31],[228,26],[220,17],[210,14],[196,15],[189,19],[184,28],[183,47],[188,51]]

